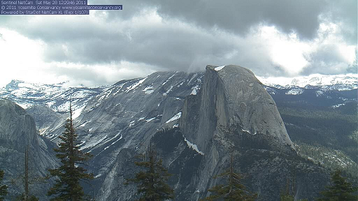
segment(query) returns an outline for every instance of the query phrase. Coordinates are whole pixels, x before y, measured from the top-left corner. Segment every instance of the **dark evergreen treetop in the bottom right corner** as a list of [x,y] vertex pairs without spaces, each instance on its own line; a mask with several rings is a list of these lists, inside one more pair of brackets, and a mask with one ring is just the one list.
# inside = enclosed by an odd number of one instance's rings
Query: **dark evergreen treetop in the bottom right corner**
[[358,195],[353,195],[358,191],[358,187],[353,187],[352,184],[341,176],[341,170],[335,170],[331,173],[331,181],[333,186],[326,186],[325,191],[320,194],[323,198],[317,198],[317,201],[357,201]]

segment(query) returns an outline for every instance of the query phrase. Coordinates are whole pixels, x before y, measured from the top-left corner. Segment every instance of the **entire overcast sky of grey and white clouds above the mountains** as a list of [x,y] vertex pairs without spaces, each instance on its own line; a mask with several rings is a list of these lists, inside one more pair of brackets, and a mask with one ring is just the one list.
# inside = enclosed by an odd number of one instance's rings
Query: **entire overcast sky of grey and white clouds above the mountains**
[[0,87],[98,86],[236,64],[262,77],[357,73],[357,0],[95,1],[90,15],[0,15]]

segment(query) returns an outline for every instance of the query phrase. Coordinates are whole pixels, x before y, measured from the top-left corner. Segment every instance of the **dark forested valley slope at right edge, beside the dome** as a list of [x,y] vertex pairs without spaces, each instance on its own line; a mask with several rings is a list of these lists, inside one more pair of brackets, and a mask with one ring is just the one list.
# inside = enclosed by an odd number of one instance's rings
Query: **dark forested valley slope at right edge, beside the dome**
[[358,178],[357,103],[338,108],[278,107],[278,110],[301,156]]

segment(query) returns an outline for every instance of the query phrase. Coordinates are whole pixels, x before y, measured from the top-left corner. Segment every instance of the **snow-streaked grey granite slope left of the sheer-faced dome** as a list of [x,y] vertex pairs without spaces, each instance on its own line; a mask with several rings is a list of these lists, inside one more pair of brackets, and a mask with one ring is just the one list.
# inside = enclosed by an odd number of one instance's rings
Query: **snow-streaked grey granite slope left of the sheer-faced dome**
[[[99,190],[96,200],[136,198],[135,185],[122,182],[139,170],[134,156],[143,153],[161,128],[178,126],[185,97],[196,94],[202,77],[203,73],[157,72],[117,82],[88,101],[75,126],[81,149],[94,155],[89,169],[95,175],[94,189]],[[55,129],[52,135],[62,131]]]

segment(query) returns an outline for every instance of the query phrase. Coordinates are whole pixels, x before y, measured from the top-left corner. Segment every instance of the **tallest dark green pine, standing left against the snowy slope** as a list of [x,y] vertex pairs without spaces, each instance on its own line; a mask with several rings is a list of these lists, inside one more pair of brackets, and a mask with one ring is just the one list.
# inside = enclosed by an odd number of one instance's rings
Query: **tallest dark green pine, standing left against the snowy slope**
[[62,165],[50,171],[51,177],[56,177],[56,183],[48,191],[48,195],[54,195],[51,200],[86,200],[80,181],[93,179],[93,174],[86,173],[85,168],[80,167],[90,159],[91,155],[80,151],[78,146],[77,134],[73,128],[72,109],[70,103],[70,118],[65,124],[66,130],[59,136],[61,142],[55,148],[56,157],[61,160]]

